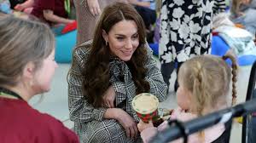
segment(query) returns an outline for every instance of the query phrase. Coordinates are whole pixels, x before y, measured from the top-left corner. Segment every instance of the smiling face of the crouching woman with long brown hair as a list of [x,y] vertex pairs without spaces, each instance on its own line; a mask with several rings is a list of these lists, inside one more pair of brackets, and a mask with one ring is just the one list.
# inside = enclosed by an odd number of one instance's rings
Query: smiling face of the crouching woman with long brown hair
[[139,45],[137,25],[133,20],[122,20],[116,23],[103,37],[108,42],[112,54],[120,60],[131,60],[131,56]]

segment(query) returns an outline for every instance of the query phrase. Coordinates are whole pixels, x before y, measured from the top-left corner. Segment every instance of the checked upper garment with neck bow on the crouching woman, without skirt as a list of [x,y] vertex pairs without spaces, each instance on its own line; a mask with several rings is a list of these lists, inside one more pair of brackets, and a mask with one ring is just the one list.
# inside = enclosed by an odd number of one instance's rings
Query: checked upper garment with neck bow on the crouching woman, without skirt
[[[70,119],[75,123],[74,129],[79,134],[80,138],[84,138],[83,130],[86,130],[81,128],[83,126],[82,124],[97,121],[98,123],[104,123],[102,127],[108,127],[108,125],[105,124],[106,122],[103,122],[105,120],[103,115],[107,108],[94,108],[87,102],[82,94],[81,85],[84,77],[81,72],[84,68],[84,62],[90,53],[90,44],[91,41],[85,42],[74,49],[72,66],[67,76]],[[163,80],[160,70],[156,67],[156,62],[153,58],[152,51],[148,48],[148,44],[145,48],[148,49],[148,60],[145,66],[148,69],[146,80],[150,84],[150,93],[158,97],[160,101],[163,101],[166,99],[166,83]],[[136,95],[136,87],[132,81],[128,66],[124,61],[114,59],[110,61],[109,68],[110,82],[113,84],[113,89],[116,92],[116,106],[124,109],[125,112],[129,113],[131,117],[138,121],[136,113],[131,108],[131,100]],[[124,77],[125,82],[119,80],[119,75]],[[91,126],[86,126],[86,128],[94,131]],[[90,137],[87,136],[85,138]]]

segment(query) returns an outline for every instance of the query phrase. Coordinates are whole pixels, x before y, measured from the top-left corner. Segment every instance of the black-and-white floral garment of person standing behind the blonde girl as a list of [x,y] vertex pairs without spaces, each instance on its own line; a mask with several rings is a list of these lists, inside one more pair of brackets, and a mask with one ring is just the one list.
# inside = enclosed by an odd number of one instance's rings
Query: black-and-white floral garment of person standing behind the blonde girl
[[160,61],[183,62],[211,47],[212,15],[225,10],[224,0],[163,0]]

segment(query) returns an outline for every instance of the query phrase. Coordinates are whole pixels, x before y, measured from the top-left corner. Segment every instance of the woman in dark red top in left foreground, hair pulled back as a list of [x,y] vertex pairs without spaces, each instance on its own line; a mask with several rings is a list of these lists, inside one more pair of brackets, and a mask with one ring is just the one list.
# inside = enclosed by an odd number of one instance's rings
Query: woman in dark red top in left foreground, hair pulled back
[[79,142],[76,134],[27,103],[49,91],[55,37],[49,27],[14,17],[0,18],[0,142]]

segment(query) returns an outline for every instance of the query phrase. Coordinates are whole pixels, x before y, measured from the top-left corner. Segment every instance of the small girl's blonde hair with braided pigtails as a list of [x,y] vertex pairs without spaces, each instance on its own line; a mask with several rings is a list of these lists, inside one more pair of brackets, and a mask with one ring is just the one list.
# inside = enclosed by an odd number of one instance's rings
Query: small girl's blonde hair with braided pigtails
[[[232,61],[232,70],[224,61]],[[191,109],[202,116],[205,107],[214,108],[220,100],[226,102],[232,76],[232,104],[236,103],[236,58],[231,54],[218,58],[213,55],[200,55],[183,63],[178,72],[183,88],[192,93]]]

